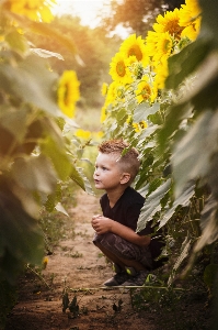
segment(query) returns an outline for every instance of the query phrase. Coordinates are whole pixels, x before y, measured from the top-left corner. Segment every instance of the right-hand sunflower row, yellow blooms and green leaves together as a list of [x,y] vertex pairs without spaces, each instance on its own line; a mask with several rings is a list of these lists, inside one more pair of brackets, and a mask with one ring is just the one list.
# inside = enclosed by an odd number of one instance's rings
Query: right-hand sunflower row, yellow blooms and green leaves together
[[102,87],[105,138],[140,152],[135,188],[146,202],[137,231],[151,221],[165,232],[162,256],[174,260],[168,285],[205,250],[209,286],[218,268],[217,19],[213,0],[186,0],[159,14],[145,38],[131,34],[122,43],[110,64],[112,82]]

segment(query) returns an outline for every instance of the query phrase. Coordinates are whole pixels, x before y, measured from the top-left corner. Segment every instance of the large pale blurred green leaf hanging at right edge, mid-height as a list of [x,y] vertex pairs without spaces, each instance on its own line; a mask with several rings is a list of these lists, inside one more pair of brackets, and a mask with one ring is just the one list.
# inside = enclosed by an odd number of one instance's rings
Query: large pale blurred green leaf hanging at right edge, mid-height
[[218,111],[199,116],[186,135],[175,144],[172,154],[175,197],[182,194],[187,182],[206,176],[211,156],[217,151]]

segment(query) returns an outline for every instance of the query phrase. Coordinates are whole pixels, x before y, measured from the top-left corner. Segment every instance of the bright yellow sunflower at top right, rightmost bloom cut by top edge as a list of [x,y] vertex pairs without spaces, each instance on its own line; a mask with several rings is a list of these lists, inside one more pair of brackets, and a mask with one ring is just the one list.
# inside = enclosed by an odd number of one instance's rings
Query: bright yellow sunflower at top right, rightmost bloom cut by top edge
[[202,9],[197,0],[186,0],[181,6],[179,24],[184,28],[181,36],[187,36],[191,41],[195,41],[199,34],[202,23]]

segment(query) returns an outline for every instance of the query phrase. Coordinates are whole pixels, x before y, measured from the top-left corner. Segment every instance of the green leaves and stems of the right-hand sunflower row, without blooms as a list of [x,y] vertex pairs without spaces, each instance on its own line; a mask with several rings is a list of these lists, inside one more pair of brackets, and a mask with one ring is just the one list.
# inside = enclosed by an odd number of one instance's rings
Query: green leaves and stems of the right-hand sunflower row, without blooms
[[[199,6],[200,33],[170,56],[165,88],[157,99],[137,105],[128,86],[125,102],[110,105],[104,122],[105,139],[124,138],[140,153],[135,187],[146,202],[137,231],[152,221],[167,233],[162,255],[173,256],[169,285],[187,258],[186,275],[218,238],[218,12],[216,1]],[[148,79],[152,75],[149,69],[145,74]],[[133,128],[144,121],[148,128]]]

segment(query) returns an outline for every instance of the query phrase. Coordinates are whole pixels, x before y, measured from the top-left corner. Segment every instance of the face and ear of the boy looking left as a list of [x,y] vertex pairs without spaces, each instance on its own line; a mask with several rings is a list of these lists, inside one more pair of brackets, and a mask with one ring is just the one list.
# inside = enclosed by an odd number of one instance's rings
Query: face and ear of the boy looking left
[[99,153],[93,175],[96,189],[112,190],[129,180],[116,160],[118,155]]

